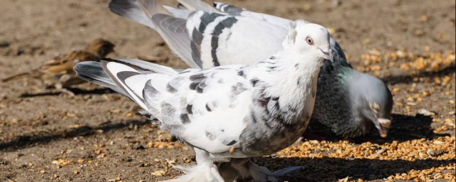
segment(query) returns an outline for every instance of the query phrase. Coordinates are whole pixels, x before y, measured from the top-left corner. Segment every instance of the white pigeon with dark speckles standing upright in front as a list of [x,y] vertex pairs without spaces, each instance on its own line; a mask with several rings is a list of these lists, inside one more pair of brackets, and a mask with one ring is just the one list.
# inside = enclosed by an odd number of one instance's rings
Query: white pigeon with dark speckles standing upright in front
[[156,118],[160,129],[196,153],[196,166],[170,181],[276,181],[297,168],[271,172],[249,158],[293,144],[306,130],[318,72],[331,59],[329,33],[313,23],[291,23],[284,50],[254,65],[207,70],[172,68],[141,60],[89,61],[78,77],[113,88]]

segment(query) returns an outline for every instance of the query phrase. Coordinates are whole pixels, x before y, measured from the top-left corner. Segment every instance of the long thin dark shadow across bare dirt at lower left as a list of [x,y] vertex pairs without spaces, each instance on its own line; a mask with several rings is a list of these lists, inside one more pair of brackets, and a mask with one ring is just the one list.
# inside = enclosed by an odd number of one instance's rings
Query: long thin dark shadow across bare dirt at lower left
[[150,124],[150,122],[136,120],[118,123],[106,122],[106,124],[101,124],[98,127],[83,126],[78,127],[77,129],[65,129],[60,132],[53,132],[53,134],[19,136],[11,141],[0,143],[0,151],[16,151],[18,149],[24,149],[38,144],[48,144],[51,141],[68,138],[71,139],[80,136],[90,136],[97,134],[99,129],[103,130],[103,132],[109,132],[111,130],[123,129],[134,125],[141,127],[145,124]]

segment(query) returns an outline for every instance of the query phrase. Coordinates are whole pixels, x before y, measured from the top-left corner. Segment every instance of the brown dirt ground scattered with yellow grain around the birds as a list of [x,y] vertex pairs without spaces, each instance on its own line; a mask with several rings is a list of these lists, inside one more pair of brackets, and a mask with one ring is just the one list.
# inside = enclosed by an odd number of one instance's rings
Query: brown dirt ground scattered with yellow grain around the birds
[[[255,161],[304,166],[285,181],[455,181],[454,0],[223,2],[328,27],[353,67],[380,75],[394,95],[386,139],[342,139],[314,125],[304,141]],[[108,0],[0,4],[0,78],[95,38],[115,43],[112,58],[185,67],[157,33],[110,13]],[[136,114],[130,100],[88,83],[71,91],[33,79],[0,82],[0,181],[157,181],[180,175],[168,161],[193,163],[192,152]]]

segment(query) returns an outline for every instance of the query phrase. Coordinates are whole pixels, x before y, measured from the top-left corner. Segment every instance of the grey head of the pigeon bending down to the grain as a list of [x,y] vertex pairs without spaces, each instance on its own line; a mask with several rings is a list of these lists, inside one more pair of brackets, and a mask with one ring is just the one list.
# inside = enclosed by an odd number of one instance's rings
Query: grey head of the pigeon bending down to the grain
[[380,137],[387,137],[391,126],[391,110],[393,109],[393,96],[388,87],[378,78],[371,75],[358,73],[352,85],[353,92],[361,96],[358,98],[358,108],[362,110],[362,118],[373,122],[378,129]]

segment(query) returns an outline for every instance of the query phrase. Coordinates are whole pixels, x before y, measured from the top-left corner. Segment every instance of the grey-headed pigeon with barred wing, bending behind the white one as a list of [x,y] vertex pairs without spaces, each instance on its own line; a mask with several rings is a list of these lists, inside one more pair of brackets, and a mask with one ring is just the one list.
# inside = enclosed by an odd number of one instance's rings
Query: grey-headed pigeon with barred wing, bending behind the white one
[[[171,50],[192,68],[254,64],[283,50],[289,20],[200,0],[177,0],[177,9],[154,0],[112,0],[109,8],[154,29]],[[378,78],[353,70],[331,38],[334,62],[325,60],[318,77],[312,120],[343,137],[378,129],[386,137],[393,97]]]

